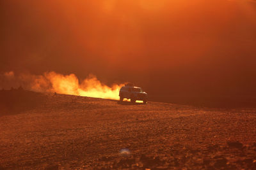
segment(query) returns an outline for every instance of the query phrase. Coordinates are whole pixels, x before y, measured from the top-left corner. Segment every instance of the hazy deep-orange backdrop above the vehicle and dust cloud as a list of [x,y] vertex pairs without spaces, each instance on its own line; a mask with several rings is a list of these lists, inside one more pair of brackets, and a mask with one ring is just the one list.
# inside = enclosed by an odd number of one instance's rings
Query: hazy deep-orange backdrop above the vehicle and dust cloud
[[0,71],[93,73],[152,94],[255,94],[256,3],[0,0]]

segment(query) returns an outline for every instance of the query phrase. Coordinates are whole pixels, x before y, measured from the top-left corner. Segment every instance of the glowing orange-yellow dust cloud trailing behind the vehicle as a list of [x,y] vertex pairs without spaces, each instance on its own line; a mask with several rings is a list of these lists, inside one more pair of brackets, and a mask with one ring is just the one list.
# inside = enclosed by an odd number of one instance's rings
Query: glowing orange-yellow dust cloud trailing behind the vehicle
[[24,87],[35,92],[56,92],[77,96],[99,97],[103,99],[119,99],[119,90],[123,84],[111,87],[101,83],[96,76],[90,74],[79,81],[75,74],[59,74],[53,71],[42,75],[15,74],[13,71],[0,75],[0,88]]

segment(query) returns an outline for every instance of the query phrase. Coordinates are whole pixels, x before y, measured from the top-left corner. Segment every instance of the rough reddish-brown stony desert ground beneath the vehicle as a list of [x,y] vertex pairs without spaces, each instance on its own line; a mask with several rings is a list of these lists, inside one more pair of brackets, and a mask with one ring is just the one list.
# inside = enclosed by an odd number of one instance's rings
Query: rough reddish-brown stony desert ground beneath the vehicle
[[4,93],[0,169],[256,169],[255,108]]

